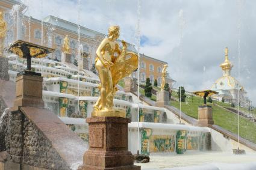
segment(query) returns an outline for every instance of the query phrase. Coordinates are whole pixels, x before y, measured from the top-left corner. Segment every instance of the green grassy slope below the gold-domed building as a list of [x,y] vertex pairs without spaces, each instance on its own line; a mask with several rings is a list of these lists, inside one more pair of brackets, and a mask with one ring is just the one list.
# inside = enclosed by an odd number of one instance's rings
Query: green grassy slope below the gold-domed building
[[[155,88],[157,90],[157,88]],[[176,91],[172,91],[172,96],[178,98]],[[201,97],[189,97],[188,102],[181,103],[181,111],[189,115],[193,118],[198,118],[198,106],[202,105],[202,98]],[[222,103],[222,102],[216,102],[217,105],[220,106],[226,106],[229,107],[228,103]],[[180,109],[180,102],[171,101],[170,105],[174,106],[175,108]],[[233,114],[231,112],[226,111],[225,109],[222,109],[218,106],[212,105],[212,103],[208,103],[208,105],[211,105],[213,107],[213,120],[214,124],[229,130],[230,132],[237,134],[237,115]],[[245,109],[245,108],[242,108]],[[252,123],[252,121],[246,120],[243,117],[240,117],[239,119],[239,125],[240,125],[240,136],[242,138],[248,139],[249,141],[252,141],[256,143],[256,124]]]

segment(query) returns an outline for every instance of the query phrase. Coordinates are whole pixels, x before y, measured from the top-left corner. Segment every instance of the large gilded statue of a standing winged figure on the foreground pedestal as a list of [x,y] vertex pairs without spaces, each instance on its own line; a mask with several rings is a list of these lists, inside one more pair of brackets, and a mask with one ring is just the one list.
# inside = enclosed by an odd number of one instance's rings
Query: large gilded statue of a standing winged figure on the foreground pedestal
[[127,52],[127,44],[122,41],[122,49],[119,47],[119,26],[110,26],[108,37],[102,40],[96,50],[95,66],[99,73],[99,90],[101,95],[93,106],[92,116],[109,117],[117,116],[118,111],[113,109],[114,94],[117,91],[117,83],[123,77],[129,76],[138,66],[138,55]]

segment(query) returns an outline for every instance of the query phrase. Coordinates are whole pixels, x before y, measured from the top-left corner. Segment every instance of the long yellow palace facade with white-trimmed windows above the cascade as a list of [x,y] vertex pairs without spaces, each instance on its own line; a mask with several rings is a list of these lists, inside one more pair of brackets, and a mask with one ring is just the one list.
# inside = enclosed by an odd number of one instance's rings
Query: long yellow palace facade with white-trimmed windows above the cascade
[[[12,28],[7,32],[5,46],[17,39],[30,41],[31,43],[54,48],[55,52],[51,53],[47,58],[54,61],[61,61],[64,37],[68,35],[71,49],[69,62],[70,65],[72,65],[78,52],[78,25],[55,16],[47,16],[43,20],[23,16],[20,35],[17,35],[19,34],[17,31],[17,23],[11,15],[11,9],[16,4],[22,3],[20,1],[13,0],[0,1],[0,10],[4,11],[5,20],[7,20],[9,28]],[[25,11],[25,8],[25,5],[23,5],[22,10]],[[22,13],[22,11],[20,12]],[[80,26],[80,44],[83,45],[83,52],[87,54],[86,59],[83,60],[83,67],[85,69],[92,69],[96,57],[96,47],[99,46],[99,43],[101,43],[104,37],[105,34],[102,34],[101,32]],[[128,50],[136,52],[134,44],[128,43]],[[154,83],[154,80],[156,79],[158,86],[160,86],[161,70],[164,64],[167,64],[167,62],[146,56],[145,54],[140,54],[140,82],[145,82],[146,78],[149,77],[151,83]],[[137,77],[137,73],[133,73],[133,77]],[[168,74],[167,82],[169,83],[169,86],[172,87],[175,80],[171,79]]]

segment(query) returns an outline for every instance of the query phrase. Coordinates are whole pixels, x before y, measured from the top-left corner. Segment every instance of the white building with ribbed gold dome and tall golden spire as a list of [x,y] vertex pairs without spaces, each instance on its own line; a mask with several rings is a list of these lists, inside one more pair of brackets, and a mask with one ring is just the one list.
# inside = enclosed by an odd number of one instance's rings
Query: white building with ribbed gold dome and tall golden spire
[[228,47],[225,49],[225,61],[220,64],[223,70],[223,76],[216,80],[211,87],[211,90],[219,92],[218,96],[220,100],[222,97],[230,102],[246,106],[249,104],[250,100],[246,96],[245,88],[240,84],[240,82],[233,76],[231,76],[231,70],[233,64],[228,58]]

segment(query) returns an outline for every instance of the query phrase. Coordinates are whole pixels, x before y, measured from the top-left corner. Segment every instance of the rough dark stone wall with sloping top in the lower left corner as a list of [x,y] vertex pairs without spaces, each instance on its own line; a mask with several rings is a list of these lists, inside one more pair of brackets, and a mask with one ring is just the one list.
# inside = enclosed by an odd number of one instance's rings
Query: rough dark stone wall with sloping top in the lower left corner
[[35,124],[20,111],[7,111],[0,125],[0,152],[7,162],[45,169],[70,169]]

